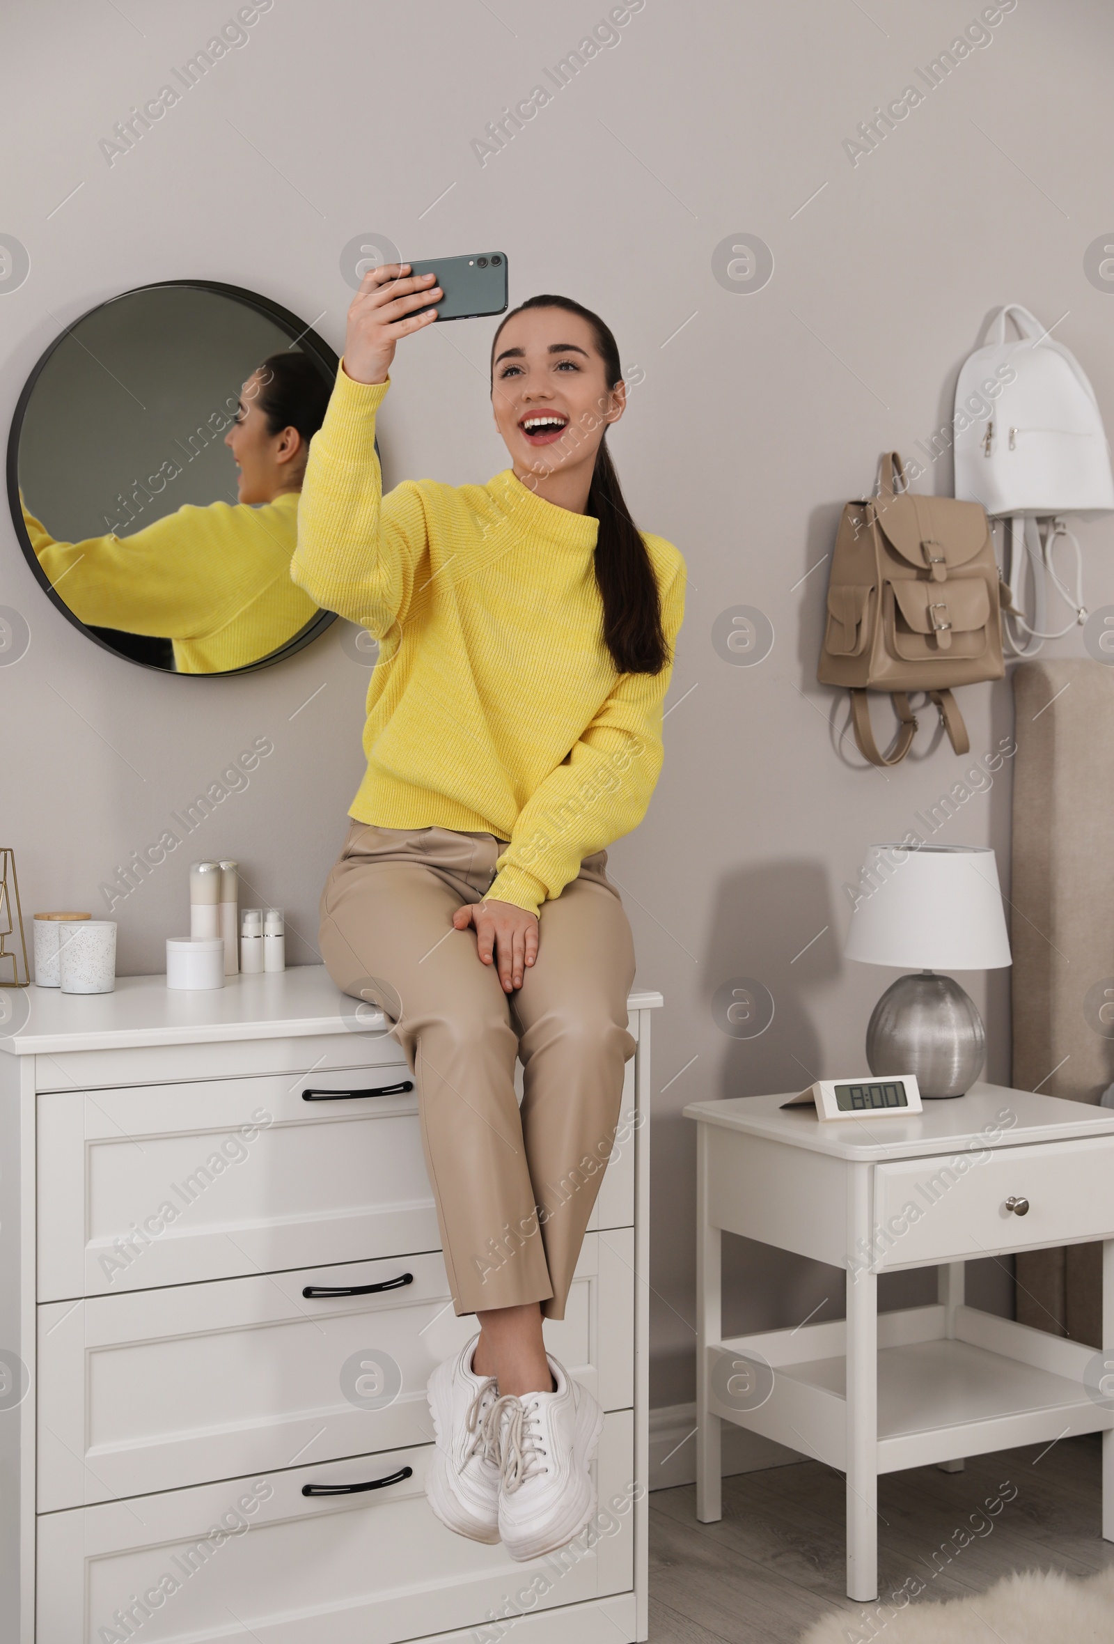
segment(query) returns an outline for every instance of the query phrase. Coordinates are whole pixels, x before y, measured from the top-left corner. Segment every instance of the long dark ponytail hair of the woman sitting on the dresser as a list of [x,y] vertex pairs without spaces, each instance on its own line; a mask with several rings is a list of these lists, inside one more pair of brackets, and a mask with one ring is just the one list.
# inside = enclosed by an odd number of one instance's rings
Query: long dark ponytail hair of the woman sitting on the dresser
[[[511,309],[495,334],[491,360],[495,360],[495,344],[508,319],[521,314],[522,309],[534,307],[559,307],[565,309],[567,314],[578,314],[580,319],[587,321],[595,334],[596,350],[603,358],[608,388],[615,388],[621,381],[623,367],[619,365],[619,350],[611,330],[598,314],[593,314],[592,309],[583,307],[580,302],[573,302],[572,298],[529,298],[519,307]],[[608,450],[606,429],[596,450],[587,511],[600,521],[595,572],[596,587],[603,600],[603,643],[621,674],[661,674],[670,659],[662,628],[661,590],[646,543],[631,518],[631,510],[626,506],[619,475],[615,472],[611,452]]]

